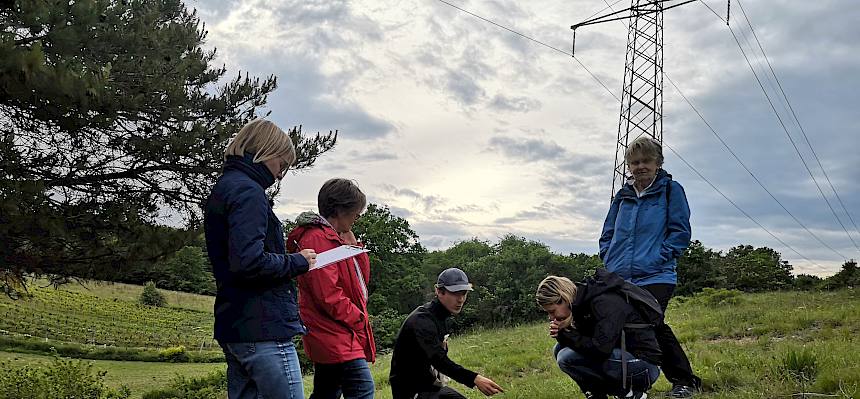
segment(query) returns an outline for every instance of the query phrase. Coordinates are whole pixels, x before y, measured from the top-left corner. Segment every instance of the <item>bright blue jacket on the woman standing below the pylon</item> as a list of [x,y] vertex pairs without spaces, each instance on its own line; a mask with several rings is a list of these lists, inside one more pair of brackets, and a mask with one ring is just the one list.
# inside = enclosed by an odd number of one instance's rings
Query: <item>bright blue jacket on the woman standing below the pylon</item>
[[600,235],[600,259],[639,286],[677,284],[676,259],[690,245],[690,234],[684,188],[660,169],[642,197],[629,183],[615,195]]

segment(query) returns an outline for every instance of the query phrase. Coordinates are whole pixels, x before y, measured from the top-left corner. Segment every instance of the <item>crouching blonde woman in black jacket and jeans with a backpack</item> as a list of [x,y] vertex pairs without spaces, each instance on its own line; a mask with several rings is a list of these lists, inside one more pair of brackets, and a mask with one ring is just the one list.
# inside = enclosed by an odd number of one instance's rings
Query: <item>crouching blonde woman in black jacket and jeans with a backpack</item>
[[660,376],[654,325],[662,319],[657,300],[606,270],[584,283],[549,276],[536,294],[549,314],[559,368],[586,398],[647,398]]

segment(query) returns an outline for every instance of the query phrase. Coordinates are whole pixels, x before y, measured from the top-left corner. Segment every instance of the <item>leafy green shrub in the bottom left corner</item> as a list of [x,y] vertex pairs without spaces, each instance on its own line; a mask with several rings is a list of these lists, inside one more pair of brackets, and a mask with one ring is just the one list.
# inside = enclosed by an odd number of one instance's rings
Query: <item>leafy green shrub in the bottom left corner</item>
[[93,365],[59,357],[46,366],[13,367],[0,363],[0,399],[125,399],[126,387],[112,390],[104,385],[105,372]]

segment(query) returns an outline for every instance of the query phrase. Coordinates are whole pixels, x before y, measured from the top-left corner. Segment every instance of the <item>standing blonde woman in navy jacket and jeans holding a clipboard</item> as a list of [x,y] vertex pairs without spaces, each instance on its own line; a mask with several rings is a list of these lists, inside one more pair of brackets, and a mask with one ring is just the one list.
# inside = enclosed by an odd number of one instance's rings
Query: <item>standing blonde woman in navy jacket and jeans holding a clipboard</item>
[[292,338],[306,330],[294,279],[314,267],[316,253],[286,254],[265,192],[295,160],[286,132],[251,121],[227,146],[224,172],[206,201],[206,250],[218,287],[215,339],[227,359],[230,399],[304,398]]

